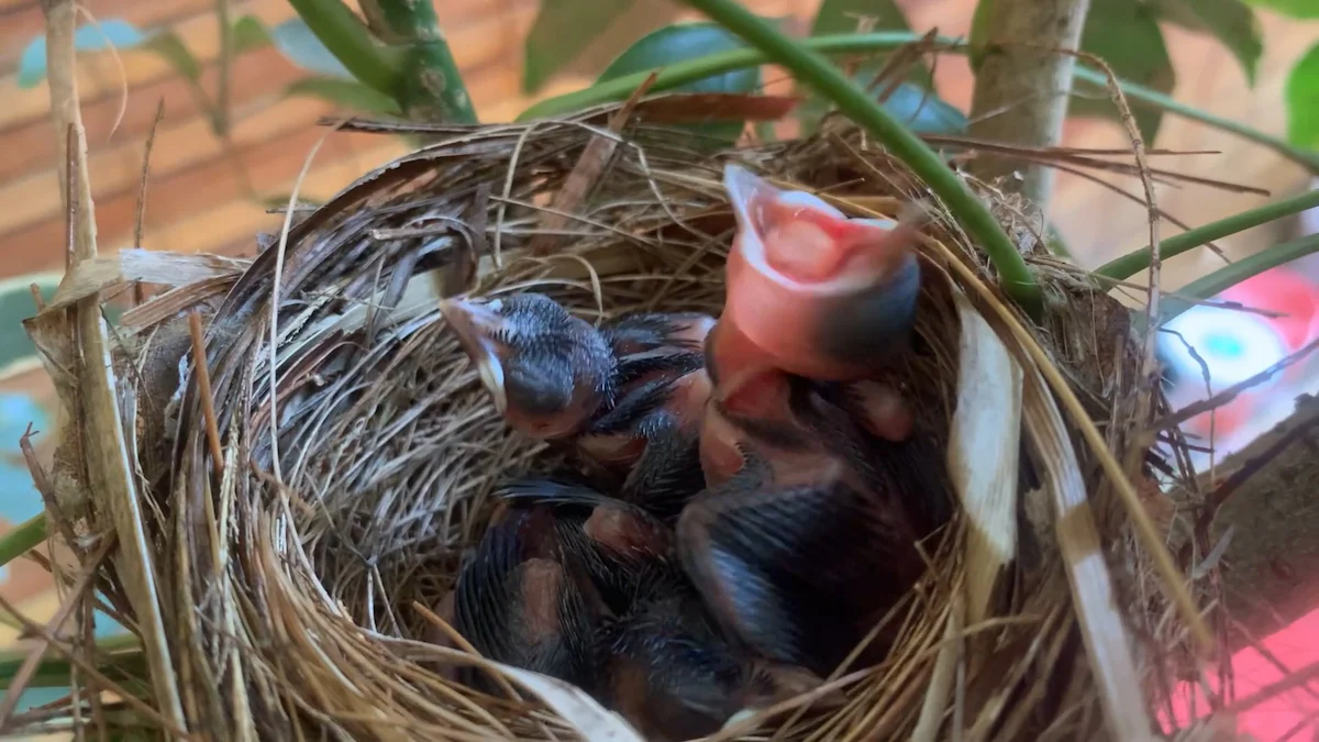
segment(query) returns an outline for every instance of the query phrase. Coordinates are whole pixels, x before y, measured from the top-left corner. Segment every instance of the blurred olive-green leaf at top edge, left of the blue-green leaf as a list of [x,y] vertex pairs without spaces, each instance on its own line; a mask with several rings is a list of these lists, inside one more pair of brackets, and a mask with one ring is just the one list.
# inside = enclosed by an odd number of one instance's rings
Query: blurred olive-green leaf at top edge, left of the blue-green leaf
[[526,34],[522,91],[533,94],[578,57],[636,0],[542,0]]

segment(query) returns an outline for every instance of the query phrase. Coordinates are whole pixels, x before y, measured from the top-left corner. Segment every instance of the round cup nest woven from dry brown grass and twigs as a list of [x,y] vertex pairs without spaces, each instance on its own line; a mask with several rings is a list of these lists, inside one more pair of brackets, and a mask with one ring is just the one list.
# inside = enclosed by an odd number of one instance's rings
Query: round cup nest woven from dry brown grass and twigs
[[[481,660],[422,640],[431,623],[418,606],[451,586],[492,487],[545,458],[496,415],[441,318],[437,298],[470,277],[459,257],[480,256],[475,293],[534,287],[592,321],[633,309],[718,314],[733,228],[725,160],[853,215],[892,215],[929,194],[848,125],[720,157],[637,127],[584,198],[565,202],[588,145],[615,140],[600,118],[438,132],[438,144],[297,210],[286,239],[264,239],[249,264],[99,259],[29,322],[78,409],[62,308],[116,284],[173,287],[112,334],[135,507],[91,494],[106,420],[69,428],[50,485],[58,531],[83,544],[84,564],[90,537],[120,533],[116,556],[92,569],[104,607],[148,647],[145,706],[128,706],[142,724],[215,739],[627,738],[599,706],[537,676],[508,671],[496,696],[458,685],[445,665]],[[926,543],[930,570],[894,617],[889,659],[831,685],[845,704],[802,697],[729,737],[1121,737],[1133,724],[1151,729],[1171,693],[1184,630],[1082,422],[1041,375],[1057,371],[1112,455],[1142,470],[1120,424],[1149,395],[1126,312],[1035,247],[992,189],[972,186],[1022,238],[1049,309],[1031,325],[1009,308],[983,253],[935,205],[919,350],[898,375],[952,452],[968,504]],[[206,317],[219,461],[189,309]],[[973,408],[1008,412],[987,421]]]

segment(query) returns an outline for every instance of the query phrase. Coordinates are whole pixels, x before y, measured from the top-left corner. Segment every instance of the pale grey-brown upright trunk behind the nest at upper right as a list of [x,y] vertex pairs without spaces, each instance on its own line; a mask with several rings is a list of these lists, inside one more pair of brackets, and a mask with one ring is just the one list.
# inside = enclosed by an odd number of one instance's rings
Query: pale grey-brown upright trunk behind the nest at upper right
[[[971,136],[1028,147],[1051,147],[1062,136],[1076,59],[1050,49],[1076,49],[1089,0],[996,0],[988,15],[984,58],[971,103]],[[984,154],[971,172],[985,181],[1005,178],[1043,211],[1054,173]]]

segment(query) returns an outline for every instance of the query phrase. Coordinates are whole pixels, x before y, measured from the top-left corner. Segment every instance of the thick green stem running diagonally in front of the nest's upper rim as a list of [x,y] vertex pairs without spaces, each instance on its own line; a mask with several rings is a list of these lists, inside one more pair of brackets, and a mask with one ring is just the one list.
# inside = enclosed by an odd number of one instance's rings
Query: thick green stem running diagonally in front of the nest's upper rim
[[1004,290],[1031,317],[1043,312],[1039,285],[1017,252],[1002,226],[989,214],[967,184],[944,165],[943,160],[910,129],[900,124],[860,86],[830,65],[819,54],[805,49],[752,15],[735,0],[686,0],[725,29],[743,37],[776,63],[824,95],[839,111],[864,125],[898,160],[905,162],[952,211],[967,232],[980,242],[998,269]]

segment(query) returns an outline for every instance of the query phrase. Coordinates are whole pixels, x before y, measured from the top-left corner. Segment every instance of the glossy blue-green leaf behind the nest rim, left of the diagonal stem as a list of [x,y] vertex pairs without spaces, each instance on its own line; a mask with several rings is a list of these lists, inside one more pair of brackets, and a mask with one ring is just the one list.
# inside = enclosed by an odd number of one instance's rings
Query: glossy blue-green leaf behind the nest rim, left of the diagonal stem
[[[743,49],[745,45],[736,36],[711,22],[674,24],[648,33],[627,51],[609,62],[596,81],[607,82],[615,78],[665,67],[675,62],[695,59],[715,51]],[[674,90],[685,92],[741,92],[751,94],[760,88],[760,69],[748,67],[711,75],[704,79],[678,86]],[[741,135],[744,123],[720,121],[718,124],[695,124],[689,128],[725,143],[733,143]]]

